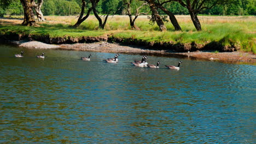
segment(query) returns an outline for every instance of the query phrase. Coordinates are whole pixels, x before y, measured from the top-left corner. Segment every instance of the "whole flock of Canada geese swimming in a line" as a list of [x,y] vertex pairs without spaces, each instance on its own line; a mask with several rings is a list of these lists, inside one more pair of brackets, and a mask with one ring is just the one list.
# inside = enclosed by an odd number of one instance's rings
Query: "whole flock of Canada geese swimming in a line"
[[[23,57],[23,51],[21,51],[21,54],[15,54],[15,57]],[[82,60],[85,61],[90,61],[91,54],[89,54],[88,57],[81,57]],[[118,57],[119,54],[117,53],[114,58],[107,58],[104,59],[103,61],[107,62],[107,63],[118,63]],[[42,53],[42,55],[37,56],[37,58],[44,58],[44,52]],[[157,62],[156,65],[154,64],[148,64],[147,63],[147,56],[143,56],[141,61],[137,61],[135,60],[134,62],[132,62],[133,65],[135,65],[136,67],[148,67],[148,68],[159,68],[160,62]],[[181,65],[181,61],[179,61],[177,67],[174,65],[165,65],[165,67],[167,67],[168,69],[179,69],[179,66]]]

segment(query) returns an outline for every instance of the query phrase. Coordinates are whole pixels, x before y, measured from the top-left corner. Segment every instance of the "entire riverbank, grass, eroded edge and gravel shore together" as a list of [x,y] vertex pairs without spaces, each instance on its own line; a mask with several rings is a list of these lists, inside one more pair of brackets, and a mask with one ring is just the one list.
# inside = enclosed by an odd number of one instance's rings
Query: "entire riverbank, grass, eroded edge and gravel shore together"
[[[97,27],[90,16],[77,28],[75,16],[46,16],[47,21],[36,27],[20,26],[22,19],[1,19],[0,41],[28,40],[21,46],[33,48],[104,51],[119,53],[148,53],[183,58],[207,59],[224,62],[255,63],[255,17],[201,17],[203,30],[195,31],[189,17],[179,17],[183,31],[173,31],[170,22],[167,31],[160,32],[149,25],[146,17],[139,17],[141,31],[129,28],[124,16],[109,17],[105,29]],[[220,19],[221,18],[221,19]],[[34,41],[43,44],[37,45]],[[48,46],[42,46],[51,44]],[[126,45],[126,46],[124,46]]]

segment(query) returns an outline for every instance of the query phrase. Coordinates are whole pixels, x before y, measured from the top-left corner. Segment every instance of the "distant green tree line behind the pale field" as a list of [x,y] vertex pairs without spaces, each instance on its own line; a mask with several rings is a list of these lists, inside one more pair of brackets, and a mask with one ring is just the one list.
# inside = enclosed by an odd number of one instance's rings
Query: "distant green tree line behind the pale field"
[[[2,0],[4,1],[4,0]],[[9,1],[9,0],[8,0]],[[110,3],[113,3],[110,4]],[[100,14],[107,13],[111,7],[117,6],[116,4],[122,3],[122,0],[103,0],[97,4],[97,11]],[[139,3],[138,3],[139,4]],[[82,7],[80,0],[44,0],[42,5],[42,12],[44,15],[78,15],[80,8]],[[138,5],[131,5],[132,9],[136,9]],[[172,11],[174,15],[188,15],[189,11],[182,7],[178,2],[172,1],[166,3],[167,10]],[[120,8],[117,11],[118,15],[122,14],[125,7]],[[147,13],[148,9],[141,9],[141,13]],[[20,0],[11,0],[9,5],[1,3],[0,16],[3,15],[23,15],[24,10],[20,3]],[[159,14],[165,14],[163,11],[159,11]],[[256,1],[255,0],[233,0],[225,5],[216,5],[212,9],[206,9],[200,11],[200,14],[205,15],[256,15]]]

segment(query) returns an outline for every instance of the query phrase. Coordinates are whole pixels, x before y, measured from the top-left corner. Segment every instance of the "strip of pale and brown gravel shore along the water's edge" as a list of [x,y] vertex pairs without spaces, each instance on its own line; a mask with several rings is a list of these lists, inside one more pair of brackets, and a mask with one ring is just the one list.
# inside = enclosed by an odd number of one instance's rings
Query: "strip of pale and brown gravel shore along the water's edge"
[[209,51],[195,51],[195,52],[170,52],[167,50],[149,50],[145,46],[125,46],[120,44],[113,44],[107,42],[97,43],[76,43],[76,44],[61,44],[52,45],[45,44],[39,41],[12,41],[11,44],[20,47],[27,47],[32,49],[62,49],[75,51],[93,51],[93,52],[113,52],[113,53],[133,53],[138,55],[149,56],[167,56],[179,57],[187,59],[201,59],[205,61],[218,61],[224,63],[237,64],[256,64],[256,55],[252,52],[209,52]]

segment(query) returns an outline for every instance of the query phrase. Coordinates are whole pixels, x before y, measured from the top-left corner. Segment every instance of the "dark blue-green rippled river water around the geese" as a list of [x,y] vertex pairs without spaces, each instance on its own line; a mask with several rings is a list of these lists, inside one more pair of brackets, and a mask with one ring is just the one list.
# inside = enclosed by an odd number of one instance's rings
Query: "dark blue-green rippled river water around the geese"
[[255,143],[254,65],[113,56],[0,45],[0,143]]

